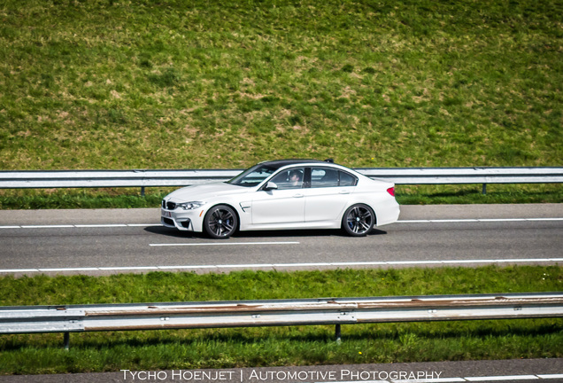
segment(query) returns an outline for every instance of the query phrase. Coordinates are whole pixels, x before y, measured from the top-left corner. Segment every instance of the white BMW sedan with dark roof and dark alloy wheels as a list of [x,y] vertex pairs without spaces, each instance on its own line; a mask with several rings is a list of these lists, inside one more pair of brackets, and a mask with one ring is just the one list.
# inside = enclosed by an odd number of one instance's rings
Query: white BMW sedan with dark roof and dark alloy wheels
[[331,160],[261,162],[228,182],[173,191],[161,208],[164,226],[212,238],[289,229],[342,229],[360,237],[398,215],[394,184]]

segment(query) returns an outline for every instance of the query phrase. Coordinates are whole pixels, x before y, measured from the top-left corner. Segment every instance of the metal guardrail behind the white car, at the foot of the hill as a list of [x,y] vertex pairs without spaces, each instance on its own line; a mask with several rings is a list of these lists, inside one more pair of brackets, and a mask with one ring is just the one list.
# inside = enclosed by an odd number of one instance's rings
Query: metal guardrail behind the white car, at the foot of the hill
[[[560,184],[563,168],[357,168],[395,184]],[[0,189],[185,186],[227,181],[243,169],[0,171]]]

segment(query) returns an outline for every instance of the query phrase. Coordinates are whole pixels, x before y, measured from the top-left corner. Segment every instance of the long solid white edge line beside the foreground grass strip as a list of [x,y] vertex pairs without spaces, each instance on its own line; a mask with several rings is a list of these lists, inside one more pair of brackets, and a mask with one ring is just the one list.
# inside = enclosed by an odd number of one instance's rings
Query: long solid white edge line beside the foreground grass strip
[[0,273],[36,273],[52,271],[123,271],[123,270],[223,270],[223,269],[279,269],[279,268],[311,268],[311,267],[351,267],[351,266],[393,266],[421,264],[456,264],[456,263],[525,263],[525,262],[563,262],[563,258],[536,259],[497,259],[497,260],[446,260],[446,261],[380,261],[380,262],[315,262],[315,263],[241,263],[216,265],[168,265],[168,266],[115,266],[115,267],[82,267],[82,268],[37,268],[37,269],[0,269]]

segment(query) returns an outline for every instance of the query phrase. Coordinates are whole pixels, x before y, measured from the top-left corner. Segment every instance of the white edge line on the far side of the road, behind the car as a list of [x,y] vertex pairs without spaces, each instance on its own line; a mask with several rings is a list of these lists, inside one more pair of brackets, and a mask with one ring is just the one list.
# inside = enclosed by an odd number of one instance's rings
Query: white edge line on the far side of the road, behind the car
[[[467,218],[467,219],[430,219],[401,220],[396,223],[497,223],[497,222],[558,222],[563,218]],[[55,225],[5,225],[0,229],[68,229],[68,228],[114,228],[114,227],[149,227],[161,226],[160,223],[100,223],[100,224],[55,224]]]

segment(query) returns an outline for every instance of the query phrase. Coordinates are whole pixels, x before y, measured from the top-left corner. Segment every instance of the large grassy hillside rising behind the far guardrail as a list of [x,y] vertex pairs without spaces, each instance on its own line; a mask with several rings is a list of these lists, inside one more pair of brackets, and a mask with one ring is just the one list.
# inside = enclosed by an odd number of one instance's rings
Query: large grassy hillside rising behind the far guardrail
[[4,0],[0,168],[560,166],[561,1]]

